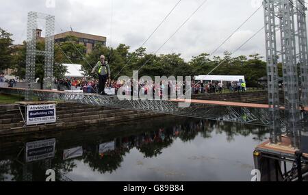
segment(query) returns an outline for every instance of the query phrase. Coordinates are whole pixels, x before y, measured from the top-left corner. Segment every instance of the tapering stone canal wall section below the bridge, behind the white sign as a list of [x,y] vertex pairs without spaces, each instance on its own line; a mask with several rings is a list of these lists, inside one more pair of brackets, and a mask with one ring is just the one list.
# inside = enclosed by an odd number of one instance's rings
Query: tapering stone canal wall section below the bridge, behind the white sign
[[60,131],[61,129],[88,127],[97,124],[109,125],[157,116],[162,115],[126,109],[60,103],[57,105],[57,122],[55,124],[24,127],[25,122],[23,122],[18,105],[0,105],[0,136],[28,134],[37,131]]

